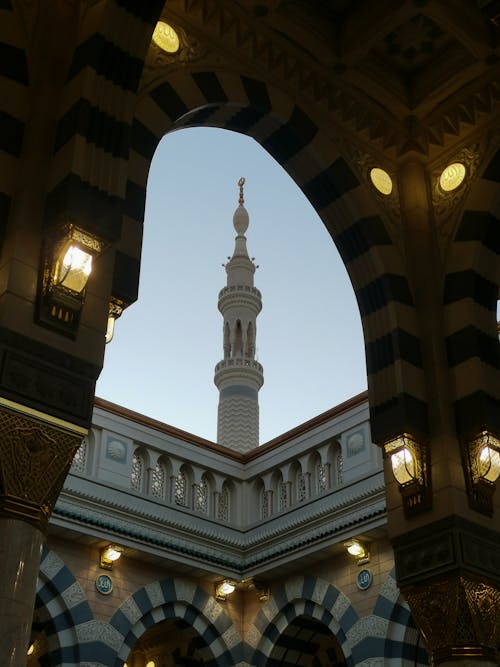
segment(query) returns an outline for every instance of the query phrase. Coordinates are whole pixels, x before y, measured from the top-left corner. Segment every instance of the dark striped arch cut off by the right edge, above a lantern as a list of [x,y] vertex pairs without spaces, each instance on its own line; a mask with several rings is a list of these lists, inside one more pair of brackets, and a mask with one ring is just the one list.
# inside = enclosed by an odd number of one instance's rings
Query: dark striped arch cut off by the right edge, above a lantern
[[[496,150],[495,150],[496,149]],[[446,353],[458,435],[500,435],[500,150],[477,166],[448,253],[443,290]]]

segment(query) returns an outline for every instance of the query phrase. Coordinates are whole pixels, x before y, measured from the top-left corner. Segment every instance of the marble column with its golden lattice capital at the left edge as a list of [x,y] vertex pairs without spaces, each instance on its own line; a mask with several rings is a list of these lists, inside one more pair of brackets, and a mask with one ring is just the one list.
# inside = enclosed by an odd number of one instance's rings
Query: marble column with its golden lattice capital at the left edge
[[0,665],[25,667],[40,552],[86,429],[14,404],[0,407]]

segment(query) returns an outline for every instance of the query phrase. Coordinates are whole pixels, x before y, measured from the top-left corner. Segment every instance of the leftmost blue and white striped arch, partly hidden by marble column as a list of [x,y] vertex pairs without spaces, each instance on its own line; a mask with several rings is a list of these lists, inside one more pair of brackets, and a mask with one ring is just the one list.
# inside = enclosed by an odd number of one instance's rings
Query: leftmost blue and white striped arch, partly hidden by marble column
[[33,640],[45,632],[49,654],[40,664],[80,665],[93,660],[98,644],[90,606],[80,584],[53,551],[44,547],[35,600]]

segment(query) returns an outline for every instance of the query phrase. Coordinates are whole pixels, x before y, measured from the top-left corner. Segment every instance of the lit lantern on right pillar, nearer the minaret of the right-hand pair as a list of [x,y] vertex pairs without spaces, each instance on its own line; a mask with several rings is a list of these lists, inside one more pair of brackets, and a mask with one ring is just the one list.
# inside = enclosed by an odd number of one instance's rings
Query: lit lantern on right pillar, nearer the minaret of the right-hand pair
[[399,484],[405,516],[430,509],[432,494],[427,447],[404,433],[386,442],[384,453],[391,461],[392,473]]

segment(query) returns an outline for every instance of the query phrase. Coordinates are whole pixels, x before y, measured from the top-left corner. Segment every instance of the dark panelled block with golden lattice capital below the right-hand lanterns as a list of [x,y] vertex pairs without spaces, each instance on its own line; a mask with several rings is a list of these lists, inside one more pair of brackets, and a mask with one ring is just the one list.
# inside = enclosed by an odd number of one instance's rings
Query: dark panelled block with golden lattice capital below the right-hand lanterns
[[394,540],[396,576],[433,665],[497,665],[498,533],[449,517]]

